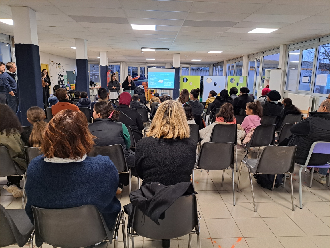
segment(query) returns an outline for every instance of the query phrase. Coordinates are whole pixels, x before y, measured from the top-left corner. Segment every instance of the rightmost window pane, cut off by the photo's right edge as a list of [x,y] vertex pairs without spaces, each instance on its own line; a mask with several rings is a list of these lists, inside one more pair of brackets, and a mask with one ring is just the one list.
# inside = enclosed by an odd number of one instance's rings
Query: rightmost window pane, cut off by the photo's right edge
[[330,93],[330,43],[318,47],[314,93]]

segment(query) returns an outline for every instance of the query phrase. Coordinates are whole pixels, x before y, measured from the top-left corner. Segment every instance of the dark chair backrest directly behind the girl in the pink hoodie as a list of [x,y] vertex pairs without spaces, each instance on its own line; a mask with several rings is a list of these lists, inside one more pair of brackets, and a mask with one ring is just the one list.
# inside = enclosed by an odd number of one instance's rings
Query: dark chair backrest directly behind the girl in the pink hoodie
[[254,129],[252,138],[247,144],[248,146],[267,146],[274,145],[275,125],[259,125]]

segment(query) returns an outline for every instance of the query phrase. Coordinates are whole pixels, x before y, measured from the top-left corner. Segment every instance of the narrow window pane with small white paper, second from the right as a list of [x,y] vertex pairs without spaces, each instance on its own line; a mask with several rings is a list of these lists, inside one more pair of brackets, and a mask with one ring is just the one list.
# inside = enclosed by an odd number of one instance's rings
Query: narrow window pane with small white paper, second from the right
[[301,61],[299,90],[310,91],[313,77],[313,62],[315,48],[303,50]]

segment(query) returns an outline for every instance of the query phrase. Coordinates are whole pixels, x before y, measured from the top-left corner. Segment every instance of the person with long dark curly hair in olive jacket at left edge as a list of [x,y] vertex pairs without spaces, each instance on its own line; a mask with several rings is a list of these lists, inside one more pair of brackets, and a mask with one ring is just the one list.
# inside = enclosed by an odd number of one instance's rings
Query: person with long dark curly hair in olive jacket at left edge
[[[21,140],[22,126],[15,115],[14,111],[5,104],[0,104],[0,145],[5,146],[9,155],[13,159],[16,166],[21,170],[25,170],[24,144]],[[23,176],[7,177],[8,183],[3,186],[14,197],[21,197],[23,189],[19,186],[19,182]]]

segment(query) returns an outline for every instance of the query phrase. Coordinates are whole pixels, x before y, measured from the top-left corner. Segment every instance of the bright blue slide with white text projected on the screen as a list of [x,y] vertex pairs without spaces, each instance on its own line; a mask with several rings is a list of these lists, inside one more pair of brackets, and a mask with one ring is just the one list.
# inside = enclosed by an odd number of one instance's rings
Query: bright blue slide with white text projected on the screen
[[174,89],[174,69],[148,68],[148,88]]

